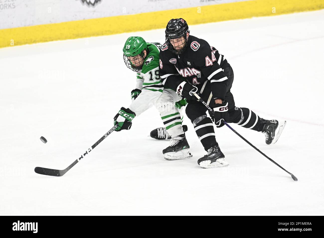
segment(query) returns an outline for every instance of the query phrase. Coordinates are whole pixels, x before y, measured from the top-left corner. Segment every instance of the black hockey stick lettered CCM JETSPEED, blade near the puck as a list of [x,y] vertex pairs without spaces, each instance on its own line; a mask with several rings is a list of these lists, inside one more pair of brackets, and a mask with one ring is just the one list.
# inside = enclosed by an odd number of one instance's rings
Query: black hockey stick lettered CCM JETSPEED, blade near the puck
[[100,142],[103,141],[107,136],[110,135],[111,132],[113,132],[118,127],[118,124],[115,125],[113,128],[111,128],[106,134],[103,135],[96,143],[91,146],[91,148],[87,149],[86,153],[81,154],[80,158],[76,159],[72,164],[70,164],[66,169],[58,170],[58,169],[48,169],[48,168],[42,168],[42,167],[36,167],[35,172],[37,174],[42,175],[49,175],[49,176],[63,176],[67,171],[70,170],[75,164],[77,164],[84,156],[86,156],[90,151],[92,151]]

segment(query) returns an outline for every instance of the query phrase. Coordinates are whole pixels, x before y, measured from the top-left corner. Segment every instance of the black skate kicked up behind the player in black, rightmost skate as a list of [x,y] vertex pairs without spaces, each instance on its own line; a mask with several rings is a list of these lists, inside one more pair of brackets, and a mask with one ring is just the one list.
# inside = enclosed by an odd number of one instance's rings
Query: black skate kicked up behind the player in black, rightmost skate
[[[260,119],[264,120],[264,119]],[[265,142],[267,145],[274,144],[278,141],[286,121],[265,120],[267,123],[264,125],[262,133],[265,135]]]

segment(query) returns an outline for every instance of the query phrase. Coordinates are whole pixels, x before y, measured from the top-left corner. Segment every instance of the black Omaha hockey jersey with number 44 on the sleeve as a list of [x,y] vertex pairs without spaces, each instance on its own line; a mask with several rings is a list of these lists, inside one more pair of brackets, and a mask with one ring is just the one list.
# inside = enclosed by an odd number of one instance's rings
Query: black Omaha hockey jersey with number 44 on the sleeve
[[160,50],[160,78],[163,84],[176,90],[178,85],[187,81],[198,87],[198,92],[206,85],[211,86],[213,98],[225,98],[228,79],[224,69],[229,63],[207,41],[189,36],[187,49],[180,55],[168,50],[163,44]]

